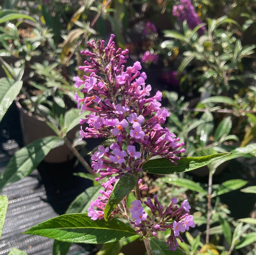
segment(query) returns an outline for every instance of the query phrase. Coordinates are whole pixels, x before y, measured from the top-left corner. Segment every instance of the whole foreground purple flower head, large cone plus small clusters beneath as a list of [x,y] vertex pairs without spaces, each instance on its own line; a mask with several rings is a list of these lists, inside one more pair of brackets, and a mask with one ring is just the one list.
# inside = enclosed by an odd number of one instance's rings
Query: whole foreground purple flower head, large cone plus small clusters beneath
[[[85,74],[74,78],[75,86],[80,87],[80,93],[76,93],[74,99],[81,109],[81,139],[105,139],[104,145],[100,145],[91,157],[93,171],[99,176],[96,181],[108,178],[102,184],[101,196],[91,201],[88,216],[92,220],[104,219],[104,209],[113,187],[123,174],[138,176],[143,164],[153,156],[177,164],[178,154],[185,151],[180,138],[162,127],[170,116],[167,109],[161,108],[162,93],[158,91],[150,97],[151,86],[146,85],[146,73],[140,72],[140,62],[125,68],[128,50],[116,48],[113,38],[111,35],[106,46],[104,40],[87,43],[90,50],[81,53],[89,60],[79,67]],[[146,189],[141,179],[137,187],[137,191]],[[154,204],[148,199],[145,206],[153,215],[149,217],[141,201],[134,200],[130,218],[122,200],[110,217],[124,214],[127,219],[133,219],[132,224],[143,235],[156,235],[158,231],[171,229],[168,243],[174,250],[176,237],[181,239],[179,233],[193,226],[193,217],[187,213],[190,209],[187,201],[180,208],[174,203],[175,200],[164,210],[157,197]],[[157,222],[157,218],[161,220]]]

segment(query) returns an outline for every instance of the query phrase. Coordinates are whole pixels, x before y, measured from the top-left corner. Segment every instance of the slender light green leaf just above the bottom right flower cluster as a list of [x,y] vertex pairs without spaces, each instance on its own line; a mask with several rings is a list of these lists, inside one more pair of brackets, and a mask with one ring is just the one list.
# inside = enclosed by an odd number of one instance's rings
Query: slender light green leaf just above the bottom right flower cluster
[[161,180],[163,182],[178,186],[178,187],[186,187],[190,190],[194,190],[202,195],[207,195],[207,192],[201,187],[199,183],[195,183],[192,180],[179,178],[178,176],[172,175],[170,177],[162,177]]

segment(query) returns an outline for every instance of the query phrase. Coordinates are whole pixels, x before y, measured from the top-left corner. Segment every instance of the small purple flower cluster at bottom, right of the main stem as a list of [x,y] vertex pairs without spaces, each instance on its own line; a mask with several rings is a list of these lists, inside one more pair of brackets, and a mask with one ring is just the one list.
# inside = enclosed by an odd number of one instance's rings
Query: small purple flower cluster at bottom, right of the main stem
[[180,208],[175,205],[176,203],[177,198],[172,198],[171,205],[164,210],[156,195],[154,196],[154,203],[147,197],[144,204],[152,212],[152,216],[150,217],[142,208],[141,201],[134,200],[130,209],[132,219],[134,219],[131,223],[138,228],[137,232],[146,232],[146,235],[150,232],[153,235],[156,235],[156,232],[158,231],[166,231],[167,229],[170,229],[171,234],[167,243],[170,244],[170,250],[176,250],[176,247],[179,246],[177,238],[183,242],[180,232],[189,230],[189,227],[195,227],[193,215],[188,214],[191,207],[188,204],[187,199],[183,201]]

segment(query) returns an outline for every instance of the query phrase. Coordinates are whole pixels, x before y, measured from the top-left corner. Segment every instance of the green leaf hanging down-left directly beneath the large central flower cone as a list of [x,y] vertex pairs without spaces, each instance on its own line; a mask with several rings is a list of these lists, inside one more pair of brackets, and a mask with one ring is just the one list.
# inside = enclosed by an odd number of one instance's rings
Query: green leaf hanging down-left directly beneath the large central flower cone
[[134,189],[135,185],[136,177],[131,174],[124,174],[117,180],[104,209],[105,220],[109,219],[111,212]]

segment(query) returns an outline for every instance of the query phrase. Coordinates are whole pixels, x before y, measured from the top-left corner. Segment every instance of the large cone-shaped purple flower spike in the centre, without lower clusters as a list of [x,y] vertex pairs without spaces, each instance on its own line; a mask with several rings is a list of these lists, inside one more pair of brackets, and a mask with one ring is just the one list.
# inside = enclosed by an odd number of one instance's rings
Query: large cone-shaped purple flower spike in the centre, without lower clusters
[[[104,41],[88,43],[91,51],[82,51],[90,57],[85,66],[80,66],[89,75],[83,79],[75,77],[75,86],[81,88],[83,97],[76,93],[74,99],[81,113],[92,113],[81,118],[87,124],[80,131],[81,138],[106,138],[115,142],[101,145],[92,156],[93,170],[99,178],[117,174],[118,176],[141,171],[142,164],[149,158],[160,155],[175,163],[175,154],[183,142],[168,128],[161,127],[170,115],[162,109],[159,101],[162,93],[149,97],[151,86],[146,85],[146,73],[140,73],[141,64],[124,68],[128,50],[116,49],[111,35],[107,46]],[[107,140],[108,141],[108,140]]]

